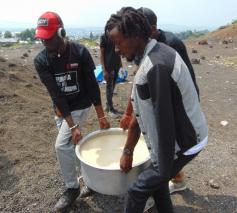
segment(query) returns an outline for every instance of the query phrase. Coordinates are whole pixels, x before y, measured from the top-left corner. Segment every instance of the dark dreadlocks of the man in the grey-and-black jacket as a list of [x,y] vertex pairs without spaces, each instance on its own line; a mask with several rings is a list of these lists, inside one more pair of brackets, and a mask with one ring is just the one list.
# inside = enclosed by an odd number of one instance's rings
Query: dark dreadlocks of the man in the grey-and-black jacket
[[126,37],[140,37],[148,40],[151,35],[151,25],[146,17],[133,7],[122,7],[112,14],[107,21],[105,31],[117,28]]

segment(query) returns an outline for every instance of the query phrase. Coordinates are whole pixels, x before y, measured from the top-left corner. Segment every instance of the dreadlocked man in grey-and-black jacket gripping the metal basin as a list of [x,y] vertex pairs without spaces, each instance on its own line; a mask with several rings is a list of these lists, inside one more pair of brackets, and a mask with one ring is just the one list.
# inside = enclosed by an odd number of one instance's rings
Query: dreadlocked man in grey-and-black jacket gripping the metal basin
[[128,61],[141,58],[131,94],[134,115],[120,168],[131,170],[141,132],[151,157],[151,166],[128,189],[124,212],[143,212],[152,196],[159,213],[173,213],[168,182],[208,141],[195,84],[180,55],[149,38],[151,26],[142,13],[123,8],[111,15],[107,27],[120,55]]

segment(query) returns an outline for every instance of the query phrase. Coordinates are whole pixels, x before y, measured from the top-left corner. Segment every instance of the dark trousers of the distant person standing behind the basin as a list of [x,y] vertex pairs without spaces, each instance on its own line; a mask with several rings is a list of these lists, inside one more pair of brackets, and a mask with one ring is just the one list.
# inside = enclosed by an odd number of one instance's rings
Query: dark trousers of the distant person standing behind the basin
[[108,110],[112,110],[114,108],[112,99],[117,78],[118,70],[111,71],[108,76],[108,81],[106,82],[106,106]]

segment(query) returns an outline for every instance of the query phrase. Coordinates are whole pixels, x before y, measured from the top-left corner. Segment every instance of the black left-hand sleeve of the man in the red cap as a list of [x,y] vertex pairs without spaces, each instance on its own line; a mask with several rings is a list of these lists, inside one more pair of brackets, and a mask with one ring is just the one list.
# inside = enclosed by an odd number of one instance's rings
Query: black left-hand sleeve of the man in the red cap
[[70,109],[64,94],[61,92],[53,74],[50,72],[49,66],[42,57],[36,57],[34,59],[35,69],[40,77],[41,82],[45,85],[48,93],[55,106],[58,107],[63,117],[70,114]]

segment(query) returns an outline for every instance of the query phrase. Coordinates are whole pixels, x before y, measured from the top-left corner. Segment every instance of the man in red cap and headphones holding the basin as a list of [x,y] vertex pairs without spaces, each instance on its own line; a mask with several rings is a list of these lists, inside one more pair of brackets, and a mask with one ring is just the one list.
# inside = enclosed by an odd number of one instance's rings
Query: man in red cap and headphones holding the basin
[[[101,105],[92,57],[83,45],[67,40],[59,15],[54,12],[41,15],[35,37],[45,46],[34,59],[35,68],[52,99],[59,130],[55,149],[67,189],[54,210],[62,211],[80,194],[74,148],[82,139],[81,130],[92,104],[100,128],[109,128],[110,124]],[[80,196],[87,192],[85,187]]]

